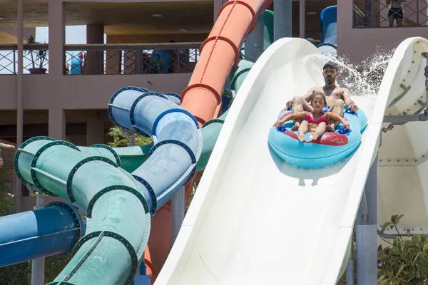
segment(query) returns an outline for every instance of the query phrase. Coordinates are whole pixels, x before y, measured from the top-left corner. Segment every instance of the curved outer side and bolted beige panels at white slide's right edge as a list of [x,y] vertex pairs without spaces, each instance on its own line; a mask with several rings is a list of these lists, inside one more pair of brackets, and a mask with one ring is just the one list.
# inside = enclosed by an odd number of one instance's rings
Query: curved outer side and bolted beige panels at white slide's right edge
[[[424,75],[427,59],[423,55],[427,52],[425,38],[408,38],[395,51],[393,58],[397,58],[394,61],[398,66],[397,73],[385,74],[381,86],[382,92],[392,93],[387,100],[385,119],[391,118],[389,115],[402,118],[407,114],[427,120],[428,86]],[[404,214],[399,223],[399,234],[428,234],[427,122],[402,124],[387,120],[382,125],[382,147],[377,162],[378,229],[381,230],[381,225],[393,214]],[[391,237],[397,231],[387,229],[384,234]]]

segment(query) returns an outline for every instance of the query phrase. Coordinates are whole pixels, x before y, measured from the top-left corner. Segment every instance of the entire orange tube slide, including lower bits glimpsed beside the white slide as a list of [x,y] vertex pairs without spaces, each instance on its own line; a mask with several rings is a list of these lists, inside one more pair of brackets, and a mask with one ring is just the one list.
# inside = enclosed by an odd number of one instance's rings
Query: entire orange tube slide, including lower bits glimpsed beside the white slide
[[[258,16],[271,3],[272,0],[230,0],[221,7],[210,35],[200,46],[200,56],[188,87],[181,94],[180,106],[192,113],[200,126],[218,117],[221,93],[230,70],[238,64],[239,48],[255,28]],[[185,185],[186,204],[200,175],[198,173]],[[148,241],[150,257],[146,260],[152,271],[161,271],[170,252],[170,225],[170,207],[165,204],[152,219]],[[156,276],[153,274],[153,282]]]

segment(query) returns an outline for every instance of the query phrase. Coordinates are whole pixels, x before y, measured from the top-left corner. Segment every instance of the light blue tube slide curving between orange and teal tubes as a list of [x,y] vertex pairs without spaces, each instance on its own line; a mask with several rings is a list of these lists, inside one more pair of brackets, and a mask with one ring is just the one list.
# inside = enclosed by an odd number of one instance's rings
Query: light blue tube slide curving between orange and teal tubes
[[108,104],[116,126],[126,133],[153,138],[146,162],[132,172],[141,183],[151,214],[193,177],[202,151],[198,121],[171,98],[126,87],[118,90]]

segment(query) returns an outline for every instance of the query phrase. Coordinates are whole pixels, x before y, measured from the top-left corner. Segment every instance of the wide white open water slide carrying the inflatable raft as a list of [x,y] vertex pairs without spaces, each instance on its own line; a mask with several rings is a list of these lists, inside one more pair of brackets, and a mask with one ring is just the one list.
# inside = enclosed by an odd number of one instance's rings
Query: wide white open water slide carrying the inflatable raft
[[[324,84],[325,60],[302,39],[273,43],[230,108],[156,285],[336,284],[378,150],[378,226],[391,214],[406,214],[402,227],[427,232],[428,156],[421,159],[427,123],[395,126],[382,133],[379,148],[382,127],[389,125],[384,115],[421,111],[425,51],[424,38],[403,41],[378,95],[353,97],[369,118],[353,155],[332,167],[302,170],[270,150],[267,134],[287,100]],[[403,93],[400,86],[411,88],[387,108]]]

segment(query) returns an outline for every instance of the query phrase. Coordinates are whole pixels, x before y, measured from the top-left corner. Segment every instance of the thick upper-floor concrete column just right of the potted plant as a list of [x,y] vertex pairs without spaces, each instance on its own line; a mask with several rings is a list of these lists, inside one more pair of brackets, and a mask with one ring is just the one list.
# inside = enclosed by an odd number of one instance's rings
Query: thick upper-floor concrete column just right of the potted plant
[[65,55],[63,45],[65,43],[66,16],[62,0],[49,0],[49,77],[56,81],[63,75]]

